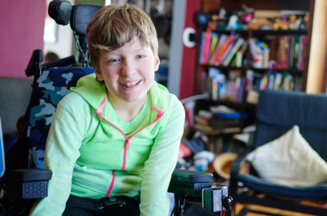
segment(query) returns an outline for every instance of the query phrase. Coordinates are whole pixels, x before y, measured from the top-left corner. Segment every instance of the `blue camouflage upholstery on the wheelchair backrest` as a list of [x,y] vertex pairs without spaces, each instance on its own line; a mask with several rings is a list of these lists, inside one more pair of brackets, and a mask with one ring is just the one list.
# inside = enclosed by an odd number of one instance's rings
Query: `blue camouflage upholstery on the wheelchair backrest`
[[76,86],[79,78],[91,73],[94,68],[50,68],[34,84],[27,129],[31,144],[29,168],[43,169],[45,143],[57,104],[71,92],[69,88]]

